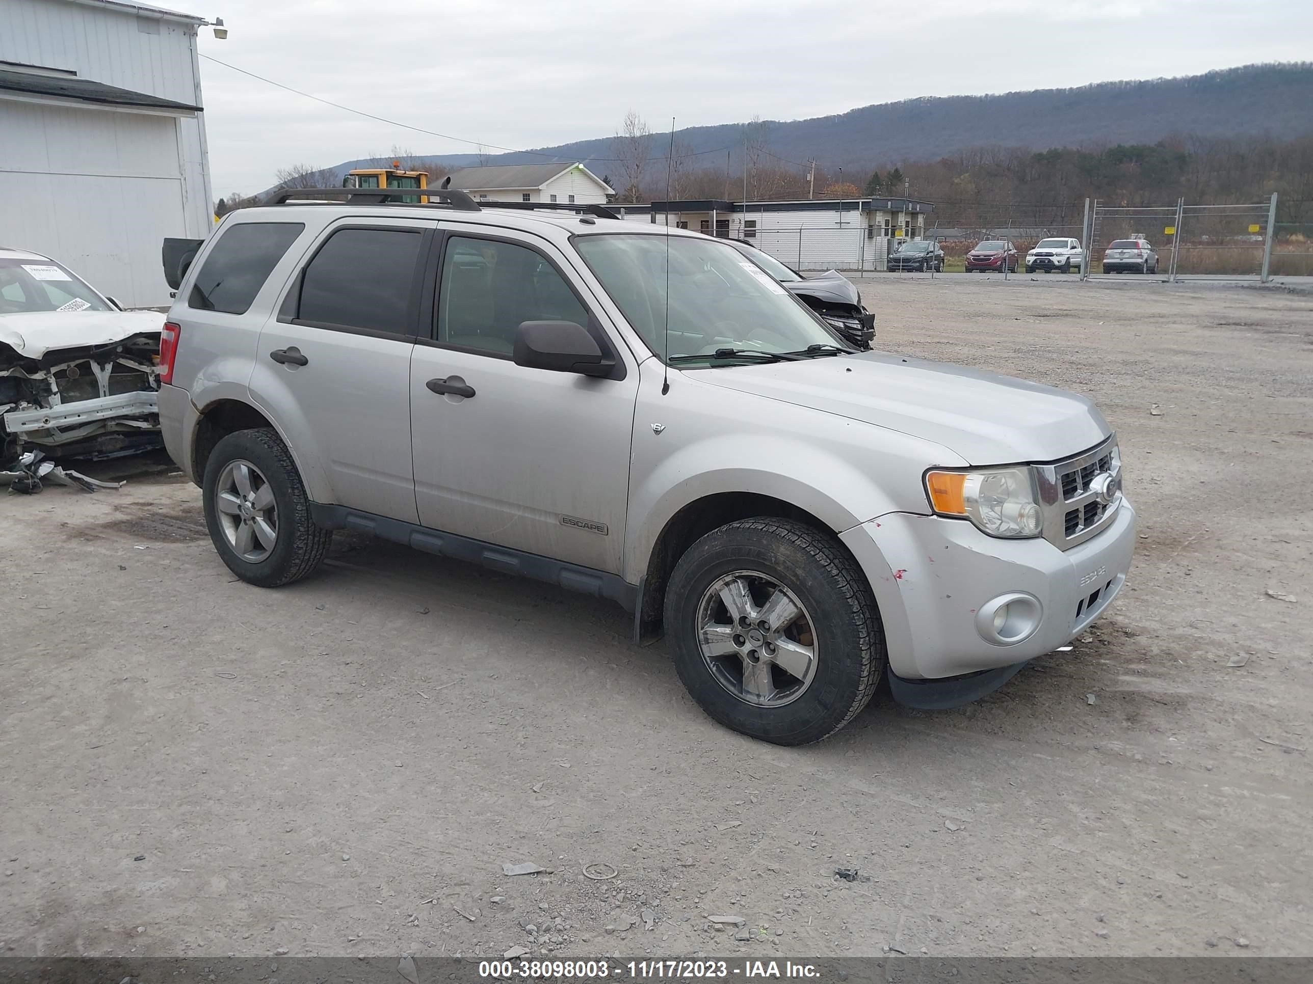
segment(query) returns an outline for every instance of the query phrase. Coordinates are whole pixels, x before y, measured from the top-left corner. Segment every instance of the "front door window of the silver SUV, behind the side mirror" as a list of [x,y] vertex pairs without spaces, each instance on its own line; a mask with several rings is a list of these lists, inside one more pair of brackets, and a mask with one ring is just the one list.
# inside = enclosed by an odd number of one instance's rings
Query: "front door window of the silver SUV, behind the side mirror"
[[588,312],[540,253],[487,239],[448,239],[437,291],[437,340],[509,356],[521,321],[587,327]]

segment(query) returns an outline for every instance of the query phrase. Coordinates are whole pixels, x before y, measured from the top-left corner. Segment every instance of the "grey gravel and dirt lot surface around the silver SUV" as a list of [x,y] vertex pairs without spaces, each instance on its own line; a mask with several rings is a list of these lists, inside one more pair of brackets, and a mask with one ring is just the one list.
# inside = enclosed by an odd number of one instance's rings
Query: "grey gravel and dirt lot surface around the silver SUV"
[[1144,538],[1073,652],[781,749],[603,602],[343,535],[251,588],[177,479],[0,497],[3,946],[1313,954],[1310,298],[863,289],[882,348],[1079,390],[1119,430]]

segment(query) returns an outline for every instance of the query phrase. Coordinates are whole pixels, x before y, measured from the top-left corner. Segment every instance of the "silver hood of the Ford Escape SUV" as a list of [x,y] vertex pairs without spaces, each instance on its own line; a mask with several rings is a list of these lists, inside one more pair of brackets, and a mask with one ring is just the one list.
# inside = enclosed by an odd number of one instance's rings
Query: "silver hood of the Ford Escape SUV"
[[889,352],[700,369],[696,377],[934,441],[970,464],[1056,461],[1111,433],[1085,396]]

